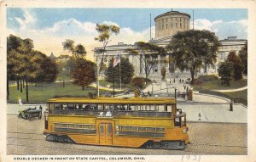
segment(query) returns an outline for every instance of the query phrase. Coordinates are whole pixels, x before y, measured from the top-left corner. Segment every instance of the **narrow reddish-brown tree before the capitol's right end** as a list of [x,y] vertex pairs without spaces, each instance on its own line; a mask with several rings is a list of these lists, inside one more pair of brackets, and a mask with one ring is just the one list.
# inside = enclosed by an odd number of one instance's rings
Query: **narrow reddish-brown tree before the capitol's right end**
[[240,80],[242,78],[242,71],[243,71],[243,65],[241,62],[241,59],[236,55],[234,51],[231,51],[228,55],[227,61],[233,64],[233,70],[234,70],[234,79]]

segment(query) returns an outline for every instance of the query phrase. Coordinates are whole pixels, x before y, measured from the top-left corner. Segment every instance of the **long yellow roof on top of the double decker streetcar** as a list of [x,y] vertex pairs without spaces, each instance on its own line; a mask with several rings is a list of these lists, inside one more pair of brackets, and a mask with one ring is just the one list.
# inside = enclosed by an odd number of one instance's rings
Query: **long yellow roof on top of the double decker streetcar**
[[48,103],[174,104],[174,98],[51,98]]

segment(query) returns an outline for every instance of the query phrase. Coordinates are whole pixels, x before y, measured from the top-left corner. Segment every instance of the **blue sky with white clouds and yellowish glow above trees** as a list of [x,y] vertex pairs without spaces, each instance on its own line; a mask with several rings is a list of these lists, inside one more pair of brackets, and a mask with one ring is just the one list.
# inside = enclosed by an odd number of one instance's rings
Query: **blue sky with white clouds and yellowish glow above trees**
[[35,49],[47,55],[67,54],[62,42],[73,39],[84,45],[87,58],[93,59],[93,48],[102,45],[94,39],[98,35],[96,23],[119,25],[119,35],[111,36],[110,45],[147,42],[150,14],[154,37],[154,18],[171,9],[190,14],[190,28],[194,10],[194,28],[213,31],[219,40],[227,36],[247,39],[247,9],[241,8],[8,8],[7,30],[8,34],[31,38]]

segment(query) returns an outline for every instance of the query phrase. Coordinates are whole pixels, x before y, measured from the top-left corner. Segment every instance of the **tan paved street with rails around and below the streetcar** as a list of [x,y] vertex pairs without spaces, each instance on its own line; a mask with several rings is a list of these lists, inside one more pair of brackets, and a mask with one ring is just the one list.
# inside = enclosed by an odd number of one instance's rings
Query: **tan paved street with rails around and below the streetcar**
[[116,148],[47,142],[44,118],[31,121],[7,116],[7,154],[247,154],[247,124],[189,122],[184,150]]

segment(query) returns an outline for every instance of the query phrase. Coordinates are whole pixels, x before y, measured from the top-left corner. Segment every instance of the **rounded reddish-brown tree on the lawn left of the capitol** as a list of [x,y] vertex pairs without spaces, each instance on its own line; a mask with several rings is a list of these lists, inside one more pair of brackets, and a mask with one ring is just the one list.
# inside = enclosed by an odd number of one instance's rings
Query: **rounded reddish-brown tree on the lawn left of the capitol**
[[96,81],[96,64],[85,59],[77,61],[75,70],[73,71],[73,84],[80,87],[88,87],[92,82]]

